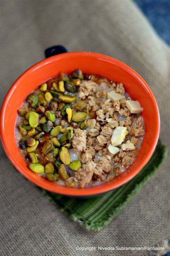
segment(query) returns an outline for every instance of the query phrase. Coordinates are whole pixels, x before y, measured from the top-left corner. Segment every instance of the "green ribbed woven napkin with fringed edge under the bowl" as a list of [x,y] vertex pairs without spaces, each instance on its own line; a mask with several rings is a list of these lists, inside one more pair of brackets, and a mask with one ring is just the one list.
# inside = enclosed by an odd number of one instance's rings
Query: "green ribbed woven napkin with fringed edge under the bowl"
[[122,187],[95,198],[76,199],[46,190],[42,192],[72,220],[87,230],[99,231],[107,226],[154,176],[166,154],[165,145],[159,141],[152,158],[138,175]]

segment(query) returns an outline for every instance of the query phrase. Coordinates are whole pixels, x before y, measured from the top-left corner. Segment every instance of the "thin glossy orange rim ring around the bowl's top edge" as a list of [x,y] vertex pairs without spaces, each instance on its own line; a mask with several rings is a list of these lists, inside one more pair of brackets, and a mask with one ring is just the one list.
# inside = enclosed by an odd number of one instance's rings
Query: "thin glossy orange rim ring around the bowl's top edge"
[[[145,89],[147,89],[147,91],[150,94],[150,98],[152,101],[152,105],[154,107],[154,113],[155,113],[155,118],[156,118],[156,131],[155,131],[155,136],[154,136],[154,143],[151,145],[150,150],[148,151],[145,159],[139,163],[138,167],[135,168],[134,170],[132,170],[131,172],[129,172],[127,174],[126,177],[122,177],[121,180],[117,180],[116,183],[114,184],[107,184],[106,186],[102,186],[102,185],[95,185],[95,186],[91,186],[88,188],[72,188],[72,187],[67,187],[67,186],[62,186],[62,185],[57,185],[55,187],[51,187],[53,189],[50,188],[50,185],[46,184],[46,183],[42,183],[40,180],[37,179],[33,179],[30,178],[27,174],[25,174],[25,172],[20,169],[18,167],[18,165],[15,163],[15,161],[13,160],[13,158],[10,156],[10,154],[8,153],[8,150],[6,148],[8,148],[8,144],[6,143],[5,140],[5,131],[4,131],[4,127],[3,127],[3,120],[5,118],[5,109],[6,109],[6,105],[8,104],[8,99],[10,98],[11,94],[13,94],[13,91],[15,90],[16,86],[20,83],[20,80],[22,80],[22,77],[25,75],[28,75],[28,73],[35,71],[38,68],[41,68],[42,66],[51,63],[53,61],[56,61],[56,59],[60,59],[60,58],[69,58],[69,57],[73,57],[75,55],[80,55],[81,56],[91,56],[94,58],[98,58],[101,60],[106,60],[107,62],[113,63],[114,65],[117,65],[121,68],[123,68],[126,72],[131,73],[133,76],[135,76],[138,80],[140,80],[140,82],[143,84],[143,86],[145,87]],[[138,73],[136,71],[134,71],[131,67],[127,66],[126,64],[124,64],[123,62],[114,59],[112,57],[109,57],[107,55],[104,54],[99,54],[99,53],[92,53],[92,52],[86,52],[86,51],[75,51],[75,52],[69,52],[69,53],[62,53],[59,55],[55,55],[52,57],[49,57],[47,59],[43,59],[40,62],[34,64],[33,66],[31,66],[30,68],[28,68],[25,72],[22,73],[22,75],[20,75],[15,82],[13,83],[13,85],[10,87],[9,91],[7,92],[5,99],[3,101],[2,107],[1,107],[1,111],[0,111],[0,137],[1,137],[1,141],[5,150],[5,153],[7,155],[7,157],[9,158],[9,160],[11,161],[11,163],[14,165],[14,167],[21,173],[23,174],[23,176],[25,178],[27,178],[28,180],[30,180],[32,183],[36,184],[37,186],[46,189],[50,192],[54,192],[54,193],[58,193],[58,194],[62,194],[65,196],[94,196],[97,194],[102,194],[105,192],[109,192],[110,190],[116,189],[118,187],[120,187],[121,185],[127,183],[128,181],[130,181],[134,176],[136,176],[138,174],[138,172],[140,172],[140,170],[147,164],[147,162],[150,160],[152,154],[155,151],[158,139],[159,139],[159,134],[160,134],[160,114],[159,114],[159,109],[156,103],[156,99],[154,94],[152,93],[150,87],[147,85],[147,83],[143,80],[143,78],[138,75]],[[103,183],[104,184],[104,183]],[[95,189],[94,189],[95,188]]]

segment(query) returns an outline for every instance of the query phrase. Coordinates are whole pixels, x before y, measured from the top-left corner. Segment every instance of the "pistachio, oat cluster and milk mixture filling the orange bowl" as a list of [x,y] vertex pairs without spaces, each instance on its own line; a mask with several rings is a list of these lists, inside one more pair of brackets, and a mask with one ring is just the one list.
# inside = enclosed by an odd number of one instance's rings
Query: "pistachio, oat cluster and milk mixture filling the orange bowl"
[[85,187],[131,165],[143,108],[122,83],[76,70],[41,84],[18,109],[16,140],[28,167],[49,181]]

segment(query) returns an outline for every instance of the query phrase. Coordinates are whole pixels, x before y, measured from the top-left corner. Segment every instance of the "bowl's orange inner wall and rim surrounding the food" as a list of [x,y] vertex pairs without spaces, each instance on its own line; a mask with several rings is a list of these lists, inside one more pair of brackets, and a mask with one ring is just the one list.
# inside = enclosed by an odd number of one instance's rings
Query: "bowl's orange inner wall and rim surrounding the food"
[[[71,73],[81,69],[87,74],[107,77],[122,82],[133,100],[138,100],[143,107],[143,120],[146,134],[136,160],[122,174],[100,185],[87,188],[72,188],[52,183],[42,176],[30,171],[21,156],[15,140],[15,123],[17,110],[28,94],[38,85],[61,72]],[[155,97],[146,84],[132,68],[111,57],[90,52],[63,53],[35,64],[25,71],[11,86],[4,99],[1,115],[1,140],[5,152],[15,168],[28,180],[43,189],[66,196],[93,196],[118,188],[131,180],[146,165],[154,153],[160,133],[160,117]]]

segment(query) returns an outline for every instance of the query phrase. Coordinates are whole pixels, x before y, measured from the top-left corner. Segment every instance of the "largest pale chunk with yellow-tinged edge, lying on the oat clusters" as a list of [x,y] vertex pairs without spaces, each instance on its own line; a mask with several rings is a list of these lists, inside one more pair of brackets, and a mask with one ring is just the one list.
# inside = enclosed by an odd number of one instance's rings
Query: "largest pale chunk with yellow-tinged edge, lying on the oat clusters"
[[127,134],[128,134],[128,131],[127,131],[126,127],[117,126],[114,129],[112,137],[111,137],[112,145],[113,146],[121,145]]

